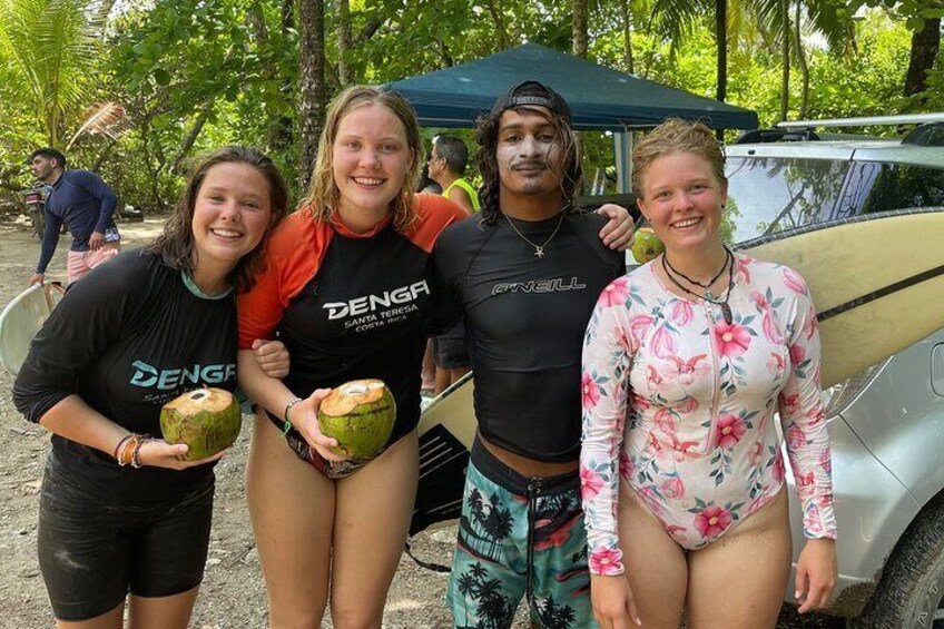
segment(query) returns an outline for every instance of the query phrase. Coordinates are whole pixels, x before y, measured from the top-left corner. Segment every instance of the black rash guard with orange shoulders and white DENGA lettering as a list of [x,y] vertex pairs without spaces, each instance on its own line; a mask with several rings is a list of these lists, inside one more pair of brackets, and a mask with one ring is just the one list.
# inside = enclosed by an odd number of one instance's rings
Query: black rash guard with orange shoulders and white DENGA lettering
[[430,250],[446,225],[465,217],[443,197],[414,198],[416,219],[403,232],[386,223],[358,235],[315,222],[307,209],[288,216],[269,240],[265,272],[239,296],[240,347],[277,331],[292,356],[283,382],[295,395],[384,381],[396,400],[391,444],[420,421]]

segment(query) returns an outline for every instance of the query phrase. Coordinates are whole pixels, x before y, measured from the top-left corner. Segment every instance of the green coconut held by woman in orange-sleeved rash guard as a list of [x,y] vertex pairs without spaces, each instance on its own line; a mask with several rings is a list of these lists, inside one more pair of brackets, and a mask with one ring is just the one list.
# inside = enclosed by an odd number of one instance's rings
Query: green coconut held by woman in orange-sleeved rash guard
[[337,440],[332,452],[370,459],[390,440],[396,420],[393,393],[380,380],[354,380],[332,390],[318,406],[322,432]]

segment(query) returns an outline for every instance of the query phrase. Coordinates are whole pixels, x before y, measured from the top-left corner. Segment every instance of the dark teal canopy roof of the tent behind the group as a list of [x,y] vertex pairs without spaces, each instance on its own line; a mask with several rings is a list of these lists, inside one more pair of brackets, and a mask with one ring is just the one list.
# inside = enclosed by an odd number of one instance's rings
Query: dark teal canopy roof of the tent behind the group
[[475,118],[514,83],[539,80],[563,96],[574,129],[621,131],[655,127],[666,118],[701,120],[714,129],[756,129],[757,114],[710,98],[618,72],[537,43],[389,83],[420,122],[472,127]]

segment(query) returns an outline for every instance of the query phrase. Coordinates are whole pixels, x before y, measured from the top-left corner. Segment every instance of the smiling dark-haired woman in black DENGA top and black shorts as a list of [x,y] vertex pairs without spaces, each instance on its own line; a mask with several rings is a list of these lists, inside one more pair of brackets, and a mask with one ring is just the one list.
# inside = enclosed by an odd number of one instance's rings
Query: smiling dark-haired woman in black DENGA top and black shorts
[[183,461],[187,446],[159,438],[160,407],[235,390],[234,288],[252,285],[286,205],[267,157],[214,153],[163,235],[72,285],[33,341],[13,401],[53,433],[39,562],[59,627],[120,628],[129,592],[132,627],[187,626],[223,454]]

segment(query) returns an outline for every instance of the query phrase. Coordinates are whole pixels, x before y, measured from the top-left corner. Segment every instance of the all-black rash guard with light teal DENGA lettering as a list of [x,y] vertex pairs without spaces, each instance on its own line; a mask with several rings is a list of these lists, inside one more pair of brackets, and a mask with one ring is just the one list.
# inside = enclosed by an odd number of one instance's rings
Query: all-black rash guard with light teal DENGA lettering
[[[69,287],[33,340],[13,402],[39,422],[76,393],[122,427],[160,436],[164,403],[200,386],[235,391],[235,296],[199,295],[159,257],[131,250]],[[110,455],[59,435],[52,449],[75,478],[128,502],[179,495],[213,473],[213,465],[119,468]]]

